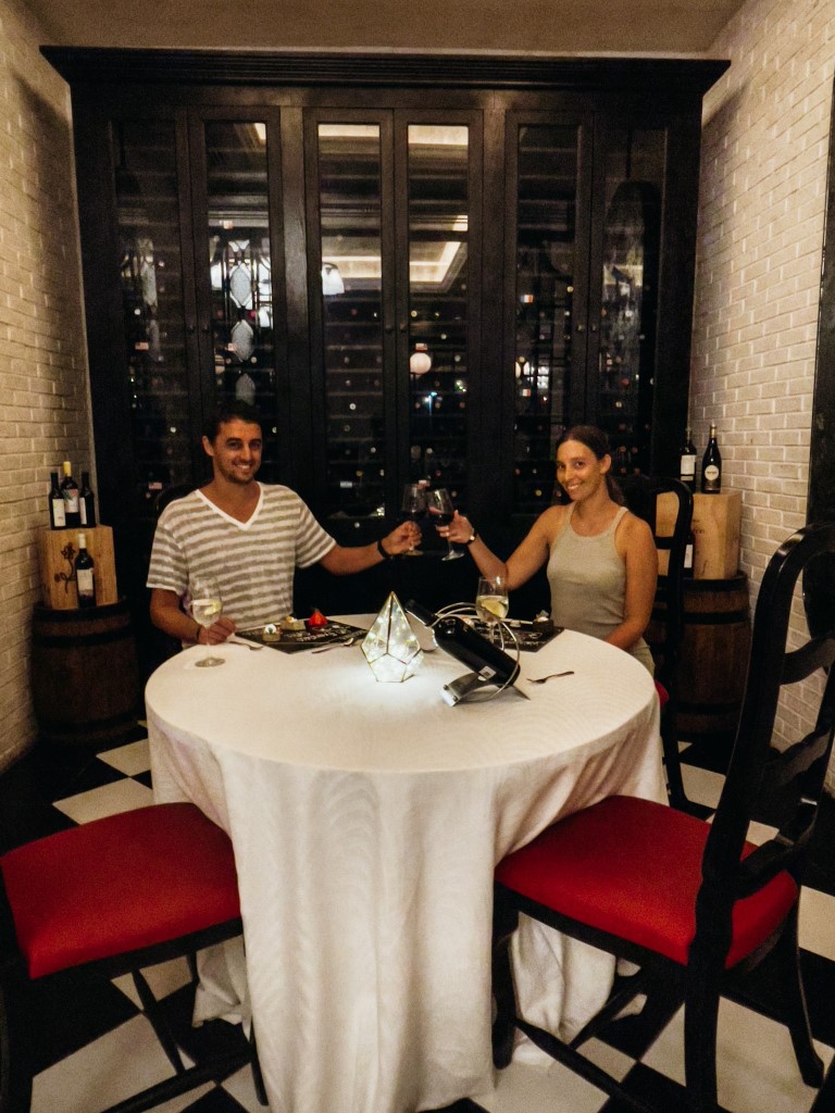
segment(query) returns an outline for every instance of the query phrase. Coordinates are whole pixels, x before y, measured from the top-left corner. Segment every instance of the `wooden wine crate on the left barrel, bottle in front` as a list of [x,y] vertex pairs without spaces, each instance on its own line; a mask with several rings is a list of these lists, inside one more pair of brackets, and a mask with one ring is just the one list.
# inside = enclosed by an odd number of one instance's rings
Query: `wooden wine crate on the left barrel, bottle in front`
[[92,556],[96,575],[96,605],[106,607],[118,601],[116,563],[114,561],[114,531],[109,525],[84,530],[50,530],[45,528],[38,538],[40,582],[45,607],[57,611],[78,608],[76,590],[76,556],[78,534],[87,539],[87,551]]

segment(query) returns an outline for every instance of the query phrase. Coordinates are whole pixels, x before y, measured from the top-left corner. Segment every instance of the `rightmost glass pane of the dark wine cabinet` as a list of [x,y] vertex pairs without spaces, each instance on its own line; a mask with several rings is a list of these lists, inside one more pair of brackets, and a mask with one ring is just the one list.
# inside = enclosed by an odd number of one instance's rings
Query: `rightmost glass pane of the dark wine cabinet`
[[649,470],[664,183],[662,129],[612,129],[606,155],[596,422],[615,475]]

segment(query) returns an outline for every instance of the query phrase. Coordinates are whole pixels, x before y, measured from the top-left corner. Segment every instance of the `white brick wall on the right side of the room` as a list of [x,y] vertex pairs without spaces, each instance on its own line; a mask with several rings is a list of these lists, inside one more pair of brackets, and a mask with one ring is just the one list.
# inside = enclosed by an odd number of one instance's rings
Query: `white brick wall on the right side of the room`
[[[834,40],[835,0],[749,0],[710,50],[731,65],[705,101],[690,416],[743,492],[753,598],[806,521]],[[793,692],[778,737],[812,705]]]

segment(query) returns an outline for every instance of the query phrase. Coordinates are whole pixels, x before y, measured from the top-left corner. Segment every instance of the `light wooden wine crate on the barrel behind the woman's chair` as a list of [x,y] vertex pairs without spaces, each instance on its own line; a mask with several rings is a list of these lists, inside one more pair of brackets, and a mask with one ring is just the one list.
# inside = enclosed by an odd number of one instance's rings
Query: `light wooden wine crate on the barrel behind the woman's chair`
[[[676,496],[658,499],[657,532],[672,532]],[[739,570],[743,495],[739,491],[692,496],[692,574],[695,580],[727,580]]]

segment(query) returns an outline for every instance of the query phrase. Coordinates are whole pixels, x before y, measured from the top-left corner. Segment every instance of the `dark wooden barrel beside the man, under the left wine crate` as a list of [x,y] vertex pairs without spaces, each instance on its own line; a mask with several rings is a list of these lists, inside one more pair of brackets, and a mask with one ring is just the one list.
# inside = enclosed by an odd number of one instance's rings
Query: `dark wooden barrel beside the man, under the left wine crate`
[[136,643],[126,601],[32,614],[32,706],[46,742],[111,746],[141,715]]

